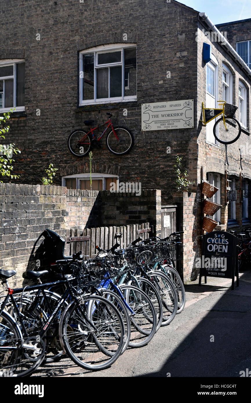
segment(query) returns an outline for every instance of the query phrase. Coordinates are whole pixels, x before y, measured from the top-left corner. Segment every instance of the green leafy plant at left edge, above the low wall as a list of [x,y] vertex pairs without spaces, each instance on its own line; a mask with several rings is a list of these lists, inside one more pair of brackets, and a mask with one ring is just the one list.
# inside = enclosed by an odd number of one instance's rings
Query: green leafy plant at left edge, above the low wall
[[[10,109],[9,112],[6,112],[3,114],[3,116],[0,116],[0,138],[2,139],[5,139],[5,134],[8,133],[10,129],[10,126],[6,125],[6,121],[10,119],[10,114],[14,109]],[[21,151],[14,146],[14,143],[8,144],[8,148],[6,145],[0,144],[0,177],[8,177],[10,181],[13,178],[18,179],[20,177],[20,175],[12,174],[12,162],[15,162],[15,160],[12,158],[12,155],[13,153],[21,153]],[[0,183],[2,182],[3,181],[0,180]]]

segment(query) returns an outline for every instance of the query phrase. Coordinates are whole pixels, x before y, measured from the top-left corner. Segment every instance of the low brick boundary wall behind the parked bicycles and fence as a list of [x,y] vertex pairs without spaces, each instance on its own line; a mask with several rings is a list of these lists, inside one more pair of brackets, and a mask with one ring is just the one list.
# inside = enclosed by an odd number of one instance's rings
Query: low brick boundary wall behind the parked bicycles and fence
[[108,191],[0,183],[0,268],[16,270],[10,284],[20,286],[35,240],[46,228],[65,237],[71,228],[108,226],[111,221],[118,226],[133,217],[127,224],[149,221],[158,234],[160,210],[161,191],[156,189],[144,190],[141,196],[115,193],[111,197]]

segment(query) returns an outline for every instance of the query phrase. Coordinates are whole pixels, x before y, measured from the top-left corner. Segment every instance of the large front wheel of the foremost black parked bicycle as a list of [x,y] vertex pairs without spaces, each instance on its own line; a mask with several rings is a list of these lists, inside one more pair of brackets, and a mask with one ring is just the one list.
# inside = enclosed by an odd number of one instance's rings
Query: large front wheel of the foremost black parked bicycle
[[[97,343],[97,337],[102,336],[102,332],[104,332],[104,324],[99,324],[97,321],[95,322],[95,326],[97,328],[97,331],[99,331],[98,334],[95,334],[95,339],[93,339],[92,334],[93,334],[93,327],[88,323],[87,321],[87,316],[84,313],[86,310],[85,304],[79,305],[75,301],[72,301],[68,307],[66,308],[66,314],[64,315],[64,320],[62,323],[62,328],[60,329],[60,336],[62,337],[62,340],[64,342],[64,347],[66,349],[66,352],[68,353],[69,357],[81,368],[85,368],[87,370],[92,370],[92,371],[99,371],[105,368],[110,367],[116,359],[120,356],[122,347],[123,347],[123,337],[124,337],[124,324],[122,321],[122,318],[120,316],[120,313],[118,312],[117,308],[106,298],[100,297],[97,295],[89,295],[87,297],[83,296],[85,303],[88,303],[88,301],[94,300],[94,301],[99,301],[98,307],[100,308],[100,303],[102,303],[104,306],[109,307],[110,310],[112,310],[117,318],[117,326],[118,329],[116,330],[117,332],[120,331],[120,341],[118,342],[116,337],[115,339],[115,345],[114,347],[111,347],[111,349],[116,349],[114,352],[114,355],[108,356],[105,355],[102,352],[102,355],[99,355],[101,353],[100,348],[98,347]],[[83,308],[83,309],[81,309]],[[108,308],[107,308],[108,309]],[[102,322],[100,322],[102,323]],[[100,329],[99,329],[100,326]],[[73,329],[76,329],[73,331]],[[85,330],[83,330],[85,329]],[[79,334],[77,334],[79,332]],[[108,333],[110,334],[110,330],[108,330]],[[110,335],[111,336],[111,335]],[[73,338],[71,340],[71,338]],[[77,339],[79,337],[79,341]],[[77,342],[78,341],[78,342]],[[101,343],[101,341],[99,340]],[[95,349],[95,353],[93,351],[87,351],[87,356],[86,359],[89,359],[88,362],[83,362],[83,359],[81,360],[77,354],[81,354],[81,349],[82,351],[85,350],[85,347],[88,346],[92,343],[92,347],[88,347],[89,349]],[[104,343],[104,341],[102,342]],[[101,344],[102,344],[101,343]],[[105,344],[105,343],[104,343]],[[75,350],[75,351],[74,351]],[[83,353],[82,353],[83,354]],[[89,355],[88,355],[89,354]],[[95,354],[93,356],[93,354]],[[94,358],[94,364],[90,364],[90,358],[89,356],[92,356]],[[97,360],[101,360],[102,364],[97,364]],[[105,361],[106,360],[106,361]],[[100,361],[100,362],[101,362]]]

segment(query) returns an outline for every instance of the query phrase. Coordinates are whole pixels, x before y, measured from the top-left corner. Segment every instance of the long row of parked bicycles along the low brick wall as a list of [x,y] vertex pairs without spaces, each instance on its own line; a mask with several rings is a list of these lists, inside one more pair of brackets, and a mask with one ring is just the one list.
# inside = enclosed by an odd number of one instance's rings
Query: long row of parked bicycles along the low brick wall
[[11,289],[15,270],[0,270],[7,289],[0,297],[0,376],[29,376],[67,355],[81,368],[102,370],[127,347],[149,343],[185,306],[175,268],[180,234],[139,237],[125,249],[97,246],[86,260],[81,251],[64,256],[64,239],[45,230],[50,266],[23,273],[33,285]]

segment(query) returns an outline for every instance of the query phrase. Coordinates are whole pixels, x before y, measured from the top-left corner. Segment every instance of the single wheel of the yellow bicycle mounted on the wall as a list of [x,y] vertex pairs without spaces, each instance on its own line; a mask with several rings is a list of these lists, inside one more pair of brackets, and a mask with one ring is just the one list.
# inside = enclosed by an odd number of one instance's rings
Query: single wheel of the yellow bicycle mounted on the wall
[[232,144],[241,135],[240,123],[235,118],[225,116],[225,125],[223,117],[216,120],[213,129],[214,137],[222,144]]

